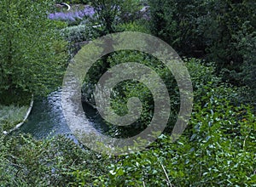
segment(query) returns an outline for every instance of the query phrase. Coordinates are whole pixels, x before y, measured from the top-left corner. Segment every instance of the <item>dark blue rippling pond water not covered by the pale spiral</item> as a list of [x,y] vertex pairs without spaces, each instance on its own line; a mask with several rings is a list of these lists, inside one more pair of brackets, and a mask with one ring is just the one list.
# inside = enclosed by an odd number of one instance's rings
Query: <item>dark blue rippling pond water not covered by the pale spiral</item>
[[[97,111],[88,104],[83,104],[84,115],[91,122],[91,126],[97,131],[106,132],[106,125]],[[20,132],[30,133],[36,139],[66,134],[67,137],[75,140],[70,131],[61,107],[61,89],[49,94],[47,98],[35,99],[32,112],[19,129]]]

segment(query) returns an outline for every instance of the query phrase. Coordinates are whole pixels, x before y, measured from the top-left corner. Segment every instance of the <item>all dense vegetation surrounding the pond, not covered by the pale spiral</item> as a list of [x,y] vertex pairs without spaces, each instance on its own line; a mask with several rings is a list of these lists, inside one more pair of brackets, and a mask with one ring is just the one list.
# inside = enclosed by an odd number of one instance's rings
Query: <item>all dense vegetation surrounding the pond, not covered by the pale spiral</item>
[[[102,155],[66,136],[36,140],[28,134],[1,135],[1,186],[255,186],[253,0],[70,1],[89,3],[93,9],[80,5],[61,14],[55,13],[54,3],[0,3],[0,43],[6,46],[0,49],[0,105],[24,105],[20,98],[61,86],[67,52],[72,58],[84,43],[116,31],[142,31],[165,40],[183,57],[195,95],[191,119],[172,143],[180,104],[172,73],[148,54],[108,54],[85,77],[83,99],[94,105],[90,92],[114,65],[147,65],[164,80],[171,96],[165,133],[146,150],[126,156]],[[145,5],[148,11],[140,11]],[[119,115],[127,112],[129,98],[143,101],[141,118],[131,128],[147,127],[154,107],[148,88],[127,81],[113,92],[112,106]],[[129,127],[108,126],[108,135],[131,135]]]

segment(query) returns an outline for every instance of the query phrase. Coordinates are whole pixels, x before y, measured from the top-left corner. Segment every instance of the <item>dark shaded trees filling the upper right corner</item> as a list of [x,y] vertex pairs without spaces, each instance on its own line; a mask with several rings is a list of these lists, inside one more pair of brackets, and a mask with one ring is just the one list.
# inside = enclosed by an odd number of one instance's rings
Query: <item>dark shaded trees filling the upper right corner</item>
[[[148,3],[151,32],[155,36],[171,44],[179,54],[216,62],[216,71],[224,73],[224,81],[255,87],[255,55],[248,51],[254,45],[256,3],[252,0],[149,0]],[[248,66],[253,66],[253,70]]]

